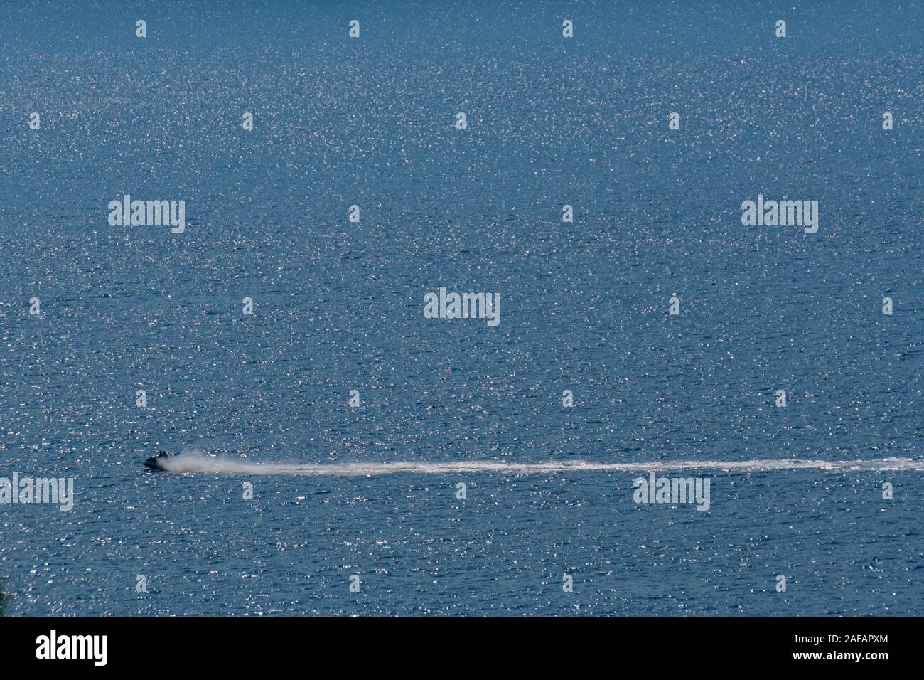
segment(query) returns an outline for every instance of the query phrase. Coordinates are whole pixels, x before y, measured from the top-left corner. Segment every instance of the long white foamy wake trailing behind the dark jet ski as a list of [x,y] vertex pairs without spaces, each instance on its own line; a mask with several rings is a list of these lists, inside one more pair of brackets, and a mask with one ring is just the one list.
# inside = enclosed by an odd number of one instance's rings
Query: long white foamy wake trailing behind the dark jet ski
[[453,461],[447,463],[331,463],[288,464],[249,463],[228,458],[182,453],[164,462],[171,473],[213,473],[225,475],[302,475],[302,476],[378,476],[396,473],[453,475],[496,473],[502,475],[543,475],[569,472],[660,472],[670,470],[716,470],[723,472],[771,472],[773,470],[821,470],[824,472],[924,472],[924,460],[879,458],[867,461],[817,461],[769,459],[754,461],[655,461],[650,463],[591,463],[561,461],[545,463],[504,463],[499,461]]

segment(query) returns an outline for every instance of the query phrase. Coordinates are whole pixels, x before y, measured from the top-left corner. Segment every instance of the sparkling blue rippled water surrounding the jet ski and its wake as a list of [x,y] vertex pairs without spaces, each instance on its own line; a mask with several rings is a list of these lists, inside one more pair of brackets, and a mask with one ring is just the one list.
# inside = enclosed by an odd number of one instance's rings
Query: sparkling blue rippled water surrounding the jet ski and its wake
[[[919,4],[3,11],[0,477],[76,485],[0,505],[7,614],[924,613],[914,464],[688,473],[708,512],[426,467],[919,458]],[[186,231],[110,227],[125,193]],[[759,193],[818,233],[743,227]],[[440,287],[501,323],[424,318]]]

